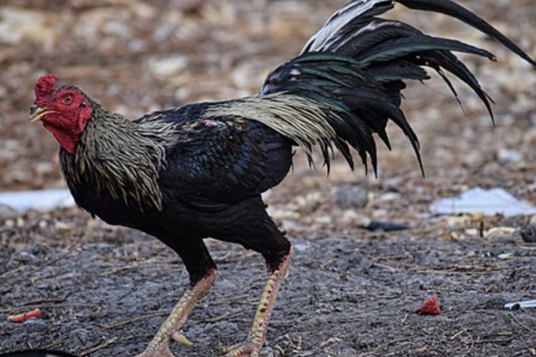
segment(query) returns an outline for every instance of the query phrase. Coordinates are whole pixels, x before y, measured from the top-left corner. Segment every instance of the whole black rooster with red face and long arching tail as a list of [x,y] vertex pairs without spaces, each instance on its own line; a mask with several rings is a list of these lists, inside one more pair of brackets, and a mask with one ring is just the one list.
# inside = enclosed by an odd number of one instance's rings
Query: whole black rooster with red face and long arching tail
[[495,61],[485,49],[429,36],[382,19],[402,4],[455,17],[499,41],[532,66],[530,56],[471,11],[450,0],[354,0],[339,9],[301,53],[275,69],[259,93],[190,104],[130,121],[76,86],[47,74],[35,86],[31,122],[59,142],[61,170],[76,203],[92,216],[143,231],[172,248],[189,273],[189,287],[140,357],[172,357],[169,345],[189,343],[182,328],[216,279],[203,239],[239,243],[262,254],[268,277],[247,340],[227,357],[258,356],[291,244],[269,217],[261,193],[277,186],[292,165],[294,146],[312,163],[319,148],[328,166],[337,149],[354,169],[352,148],[377,168],[374,141],[387,147],[387,122],[419,141],[400,109],[405,81],[447,72],[475,91],[492,116],[492,100],[453,52]]

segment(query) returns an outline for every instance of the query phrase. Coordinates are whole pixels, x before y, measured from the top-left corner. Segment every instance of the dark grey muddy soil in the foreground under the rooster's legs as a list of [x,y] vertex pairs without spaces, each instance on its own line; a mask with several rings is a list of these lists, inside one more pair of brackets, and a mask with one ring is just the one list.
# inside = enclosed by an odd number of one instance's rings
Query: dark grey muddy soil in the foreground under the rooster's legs
[[[141,352],[187,284],[182,263],[139,233],[99,233],[93,226],[94,236],[87,237],[86,231],[54,228],[64,221],[84,223],[78,213],[61,212],[27,231],[31,239],[15,238],[19,228],[7,233],[9,245],[20,248],[1,256],[2,348],[57,348],[82,356]],[[63,243],[49,243],[51,236]],[[294,236],[294,261],[265,356],[531,356],[535,314],[503,306],[534,297],[535,246],[512,236],[415,236]],[[195,345],[174,346],[176,356],[217,355],[247,336],[254,314],[262,259],[237,246],[209,246],[219,281],[184,330]],[[517,257],[497,259],[505,252]],[[439,296],[442,314],[417,315],[432,294]],[[36,307],[39,320],[5,320]]]

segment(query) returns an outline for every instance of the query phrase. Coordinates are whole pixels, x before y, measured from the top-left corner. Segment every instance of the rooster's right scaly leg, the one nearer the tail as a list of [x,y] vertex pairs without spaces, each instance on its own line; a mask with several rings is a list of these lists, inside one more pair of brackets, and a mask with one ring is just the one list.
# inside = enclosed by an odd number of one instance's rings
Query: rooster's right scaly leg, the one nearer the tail
[[255,313],[253,326],[247,340],[244,343],[224,348],[224,357],[256,357],[264,346],[270,316],[274,311],[274,305],[279,293],[279,288],[287,274],[292,250],[289,251],[277,268],[269,273],[268,281],[262,291],[261,301]]

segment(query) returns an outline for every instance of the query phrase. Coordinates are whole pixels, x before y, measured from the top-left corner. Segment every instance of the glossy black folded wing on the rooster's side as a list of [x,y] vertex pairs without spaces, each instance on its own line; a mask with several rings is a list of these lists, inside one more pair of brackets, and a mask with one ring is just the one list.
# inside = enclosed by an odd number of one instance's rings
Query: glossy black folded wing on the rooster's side
[[198,209],[222,209],[267,191],[292,165],[288,139],[241,116],[204,116],[178,129],[160,182],[167,198]]

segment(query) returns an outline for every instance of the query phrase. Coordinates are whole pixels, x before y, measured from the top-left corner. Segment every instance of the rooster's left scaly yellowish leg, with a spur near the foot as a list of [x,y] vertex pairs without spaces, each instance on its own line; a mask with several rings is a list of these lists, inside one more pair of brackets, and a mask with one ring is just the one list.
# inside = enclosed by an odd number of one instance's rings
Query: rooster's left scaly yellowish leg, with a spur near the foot
[[192,343],[182,336],[180,330],[186,323],[189,314],[192,313],[194,306],[207,295],[215,280],[216,269],[212,269],[208,276],[197,281],[189,288],[173,308],[172,313],[169,314],[152,341],[149,342],[145,351],[136,357],[174,357],[169,351],[169,342],[172,340],[191,345]]

